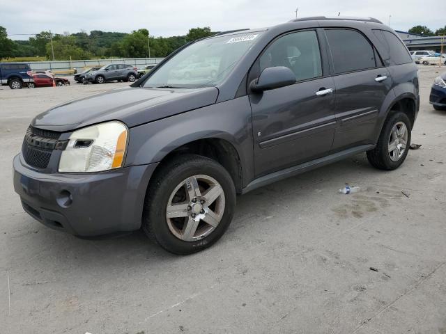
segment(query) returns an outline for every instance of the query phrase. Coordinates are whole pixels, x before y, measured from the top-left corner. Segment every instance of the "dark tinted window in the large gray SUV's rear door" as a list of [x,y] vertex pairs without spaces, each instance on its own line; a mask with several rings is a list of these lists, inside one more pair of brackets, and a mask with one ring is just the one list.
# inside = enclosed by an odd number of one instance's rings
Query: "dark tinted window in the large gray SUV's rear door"
[[332,52],[335,73],[376,67],[374,49],[361,33],[347,29],[328,29],[325,33]]

